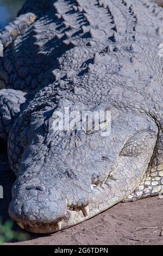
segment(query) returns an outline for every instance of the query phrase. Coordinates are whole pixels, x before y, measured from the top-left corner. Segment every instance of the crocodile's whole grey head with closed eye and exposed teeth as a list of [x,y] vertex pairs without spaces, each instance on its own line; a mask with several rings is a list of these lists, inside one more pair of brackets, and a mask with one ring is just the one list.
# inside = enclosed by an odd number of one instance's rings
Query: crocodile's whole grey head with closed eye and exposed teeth
[[34,233],[70,227],[121,202],[139,184],[154,153],[154,120],[105,105],[91,111],[99,109],[111,112],[108,134],[105,121],[96,131],[54,129],[62,107],[32,113],[20,133],[23,155],[9,207],[21,227]]

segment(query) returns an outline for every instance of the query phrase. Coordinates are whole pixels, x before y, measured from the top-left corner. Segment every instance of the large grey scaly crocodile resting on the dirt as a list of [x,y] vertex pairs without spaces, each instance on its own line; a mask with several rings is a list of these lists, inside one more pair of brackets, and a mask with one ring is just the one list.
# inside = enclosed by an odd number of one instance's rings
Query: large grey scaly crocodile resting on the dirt
[[[20,227],[53,233],[163,193],[162,21],[146,0],[36,0],[0,32],[0,136]],[[111,122],[56,129],[65,109]]]

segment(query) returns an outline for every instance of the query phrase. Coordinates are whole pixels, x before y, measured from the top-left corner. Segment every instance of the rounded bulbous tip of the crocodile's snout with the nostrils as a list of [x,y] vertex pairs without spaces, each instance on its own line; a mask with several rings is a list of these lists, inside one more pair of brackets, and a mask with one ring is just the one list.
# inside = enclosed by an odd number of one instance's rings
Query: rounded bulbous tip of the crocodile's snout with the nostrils
[[15,184],[9,214],[21,228],[34,233],[51,233],[68,220],[66,198],[48,185]]

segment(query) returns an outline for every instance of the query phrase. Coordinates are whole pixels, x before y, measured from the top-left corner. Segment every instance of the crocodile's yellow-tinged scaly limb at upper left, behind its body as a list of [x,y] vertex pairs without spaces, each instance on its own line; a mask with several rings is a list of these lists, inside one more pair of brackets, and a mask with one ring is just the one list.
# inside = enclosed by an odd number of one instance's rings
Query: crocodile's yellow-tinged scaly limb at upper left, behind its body
[[26,13],[10,22],[9,25],[0,32],[0,43],[3,45],[4,49],[11,44],[18,35],[23,34],[35,20],[35,14]]

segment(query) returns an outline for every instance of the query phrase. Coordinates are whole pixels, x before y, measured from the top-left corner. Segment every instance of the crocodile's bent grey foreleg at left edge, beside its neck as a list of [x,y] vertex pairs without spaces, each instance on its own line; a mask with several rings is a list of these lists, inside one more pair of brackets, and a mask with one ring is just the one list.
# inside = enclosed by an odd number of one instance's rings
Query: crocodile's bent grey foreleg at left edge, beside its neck
[[3,141],[7,141],[14,121],[27,103],[28,96],[24,92],[12,89],[0,90],[0,137]]

